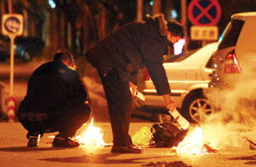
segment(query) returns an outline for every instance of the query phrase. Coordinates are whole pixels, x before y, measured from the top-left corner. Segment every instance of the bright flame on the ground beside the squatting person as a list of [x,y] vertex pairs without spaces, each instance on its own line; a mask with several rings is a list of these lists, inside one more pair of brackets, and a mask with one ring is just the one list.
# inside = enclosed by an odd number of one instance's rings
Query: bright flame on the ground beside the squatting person
[[90,125],[84,130],[86,124],[83,125],[82,131],[79,135],[75,136],[75,139],[79,141],[80,144],[85,146],[105,146],[106,143],[103,141],[102,129],[93,125],[93,118],[90,121]]

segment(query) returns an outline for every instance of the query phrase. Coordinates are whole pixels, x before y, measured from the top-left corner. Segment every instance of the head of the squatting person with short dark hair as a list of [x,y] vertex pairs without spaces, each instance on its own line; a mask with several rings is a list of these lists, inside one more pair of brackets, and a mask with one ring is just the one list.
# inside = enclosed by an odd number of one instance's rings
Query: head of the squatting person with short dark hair
[[73,60],[73,55],[67,49],[59,49],[54,56],[55,61],[61,61],[63,64],[68,66],[69,68],[75,69],[76,65]]

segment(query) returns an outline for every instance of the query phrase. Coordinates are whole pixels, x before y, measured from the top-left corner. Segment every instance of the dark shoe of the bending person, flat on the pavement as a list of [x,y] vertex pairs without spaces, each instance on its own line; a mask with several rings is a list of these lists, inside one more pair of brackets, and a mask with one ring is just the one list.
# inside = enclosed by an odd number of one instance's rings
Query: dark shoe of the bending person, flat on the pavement
[[143,153],[143,148],[131,145],[130,147],[113,146],[111,153]]

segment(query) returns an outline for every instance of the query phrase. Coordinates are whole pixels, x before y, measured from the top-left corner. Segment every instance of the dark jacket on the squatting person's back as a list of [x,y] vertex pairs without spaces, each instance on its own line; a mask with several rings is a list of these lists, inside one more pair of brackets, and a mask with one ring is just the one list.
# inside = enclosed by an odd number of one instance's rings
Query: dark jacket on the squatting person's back
[[79,73],[69,69],[61,61],[51,61],[39,66],[32,73],[28,81],[26,97],[20,103],[19,117],[26,117],[27,113],[38,117],[55,115],[55,112],[63,112],[57,111],[56,108],[65,105],[77,106],[83,104],[86,98],[87,94]]

